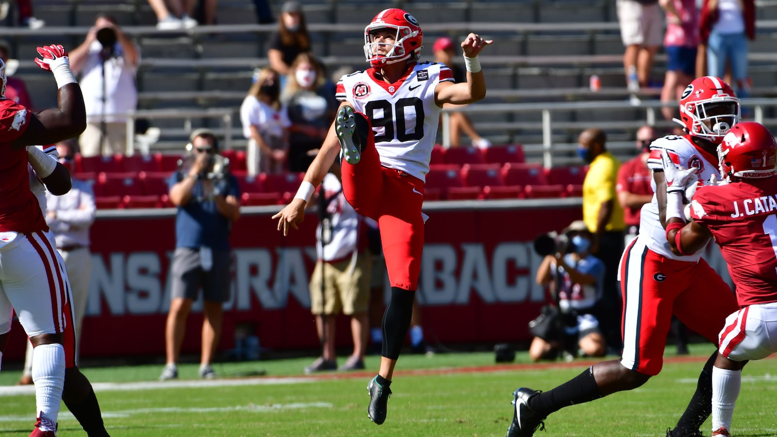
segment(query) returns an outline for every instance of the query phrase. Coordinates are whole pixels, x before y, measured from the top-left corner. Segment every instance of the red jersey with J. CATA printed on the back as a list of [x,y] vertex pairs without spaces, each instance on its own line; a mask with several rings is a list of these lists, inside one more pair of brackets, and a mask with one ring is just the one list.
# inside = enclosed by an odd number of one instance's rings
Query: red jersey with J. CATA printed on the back
[[777,302],[777,176],[699,187],[691,217],[713,233],[740,306]]

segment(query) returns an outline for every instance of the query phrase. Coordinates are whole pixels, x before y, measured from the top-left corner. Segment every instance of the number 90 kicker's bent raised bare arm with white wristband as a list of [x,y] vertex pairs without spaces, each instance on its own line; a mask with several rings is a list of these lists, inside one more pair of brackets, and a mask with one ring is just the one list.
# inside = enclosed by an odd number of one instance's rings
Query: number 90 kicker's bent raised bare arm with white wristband
[[483,69],[480,67],[478,54],[483,51],[483,47],[492,43],[493,40],[483,40],[476,33],[470,33],[462,41],[464,63],[467,69],[467,82],[440,82],[437,84],[437,88],[434,89],[434,100],[437,106],[442,107],[443,103],[453,103],[455,105],[473,103],[482,100],[486,96],[486,79],[483,77]]

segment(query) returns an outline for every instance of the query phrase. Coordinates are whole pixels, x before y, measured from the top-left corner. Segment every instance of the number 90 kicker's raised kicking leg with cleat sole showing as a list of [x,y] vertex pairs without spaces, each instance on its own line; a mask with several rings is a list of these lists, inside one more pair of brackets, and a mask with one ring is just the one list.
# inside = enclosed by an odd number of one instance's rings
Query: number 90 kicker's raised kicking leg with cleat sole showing
[[386,200],[381,195],[381,159],[370,121],[354,108],[343,106],[337,111],[335,131],[343,149],[343,194],[359,214],[377,220],[378,205]]

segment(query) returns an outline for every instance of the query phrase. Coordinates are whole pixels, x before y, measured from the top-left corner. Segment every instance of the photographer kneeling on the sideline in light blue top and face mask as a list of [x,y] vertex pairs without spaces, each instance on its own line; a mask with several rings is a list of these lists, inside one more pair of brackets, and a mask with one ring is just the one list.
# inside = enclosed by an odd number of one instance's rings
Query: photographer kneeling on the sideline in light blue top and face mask
[[567,357],[605,356],[605,337],[594,310],[603,293],[605,264],[588,253],[591,232],[582,220],[572,222],[562,235],[555,232],[535,239],[535,251],[544,256],[537,270],[539,285],[549,286],[554,304],[529,323],[529,356],[533,361]]

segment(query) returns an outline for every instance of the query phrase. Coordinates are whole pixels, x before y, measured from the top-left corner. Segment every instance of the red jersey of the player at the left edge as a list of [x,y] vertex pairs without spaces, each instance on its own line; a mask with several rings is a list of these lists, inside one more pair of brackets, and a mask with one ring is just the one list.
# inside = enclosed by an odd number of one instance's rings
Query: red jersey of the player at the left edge
[[13,100],[0,100],[0,232],[47,231],[35,195],[30,191],[27,150],[11,149],[12,140],[29,126],[32,113]]

